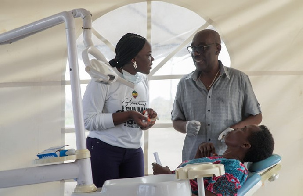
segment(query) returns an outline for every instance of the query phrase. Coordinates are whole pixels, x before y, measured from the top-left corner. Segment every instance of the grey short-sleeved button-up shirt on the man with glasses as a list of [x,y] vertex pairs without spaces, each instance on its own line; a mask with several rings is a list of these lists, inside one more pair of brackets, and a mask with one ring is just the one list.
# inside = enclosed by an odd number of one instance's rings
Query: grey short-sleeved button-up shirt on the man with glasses
[[181,78],[173,105],[172,120],[197,120],[201,127],[196,136],[186,135],[182,161],[194,158],[198,146],[212,142],[216,153],[222,155],[225,143],[218,141],[227,127],[261,113],[249,78],[243,72],[228,68],[220,63],[220,76],[210,91],[198,80],[198,71]]

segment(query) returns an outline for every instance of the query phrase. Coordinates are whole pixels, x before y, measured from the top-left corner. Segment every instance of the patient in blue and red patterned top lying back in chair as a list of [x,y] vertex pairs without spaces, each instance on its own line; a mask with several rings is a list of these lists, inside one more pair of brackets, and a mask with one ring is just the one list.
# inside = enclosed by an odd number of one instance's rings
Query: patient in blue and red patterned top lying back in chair
[[[223,155],[216,154],[212,143],[199,145],[195,159],[182,162],[179,167],[193,163],[220,163],[224,165],[225,174],[205,177],[205,195],[237,195],[244,184],[248,170],[244,162],[258,162],[270,157],[274,150],[274,139],[265,125],[247,125],[235,128],[225,137],[227,150]],[[154,174],[175,174],[169,167],[153,163]],[[198,194],[197,179],[190,180],[192,195]]]

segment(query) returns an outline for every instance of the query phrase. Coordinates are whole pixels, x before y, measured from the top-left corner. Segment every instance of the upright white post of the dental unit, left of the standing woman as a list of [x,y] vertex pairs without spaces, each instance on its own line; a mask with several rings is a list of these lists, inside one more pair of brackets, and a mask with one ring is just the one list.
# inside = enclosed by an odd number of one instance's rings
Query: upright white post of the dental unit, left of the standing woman
[[[81,11],[84,10],[83,9],[73,10],[72,14],[74,17],[82,16],[77,14]],[[79,78],[79,65],[78,65],[78,57],[77,57],[75,22],[73,20],[73,17],[71,18],[69,17],[67,19],[69,20],[65,21],[66,22],[65,28],[66,28],[67,47],[68,47],[69,72],[71,78],[76,146],[78,152],[89,153],[89,151],[86,149],[86,142],[85,142],[85,128],[84,128],[84,120],[83,120],[83,107],[82,107],[82,97],[81,97],[80,78]],[[96,186],[93,184],[92,181],[90,159],[87,158],[80,160],[78,164],[79,164],[80,172],[77,179],[78,184],[76,186],[75,191],[76,192],[95,191]]]

